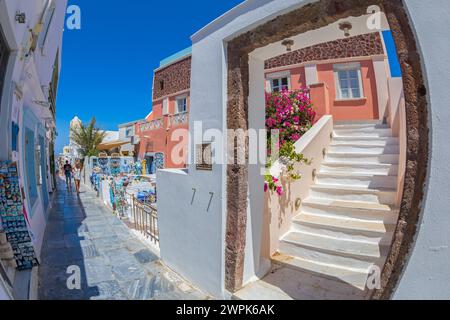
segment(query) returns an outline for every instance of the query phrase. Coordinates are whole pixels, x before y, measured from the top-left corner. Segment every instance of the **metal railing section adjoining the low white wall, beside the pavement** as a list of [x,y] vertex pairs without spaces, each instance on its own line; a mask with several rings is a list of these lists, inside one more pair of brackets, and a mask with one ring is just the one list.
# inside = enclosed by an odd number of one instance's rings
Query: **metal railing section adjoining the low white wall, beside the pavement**
[[132,197],[134,228],[159,245],[158,212],[153,204]]

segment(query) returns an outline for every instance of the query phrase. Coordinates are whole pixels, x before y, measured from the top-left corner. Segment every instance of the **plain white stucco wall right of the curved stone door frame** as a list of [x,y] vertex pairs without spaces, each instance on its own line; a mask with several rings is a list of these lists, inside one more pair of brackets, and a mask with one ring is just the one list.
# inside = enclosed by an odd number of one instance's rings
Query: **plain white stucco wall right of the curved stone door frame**
[[450,2],[404,1],[429,94],[431,155],[422,221],[395,299],[450,298]]

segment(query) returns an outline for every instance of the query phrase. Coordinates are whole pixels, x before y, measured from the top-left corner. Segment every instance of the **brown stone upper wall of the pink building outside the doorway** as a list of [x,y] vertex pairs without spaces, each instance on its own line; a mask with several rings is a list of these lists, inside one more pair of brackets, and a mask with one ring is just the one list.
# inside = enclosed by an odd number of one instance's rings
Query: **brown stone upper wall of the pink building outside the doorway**
[[[153,101],[191,87],[191,57],[180,60],[155,72],[153,78]],[[161,89],[161,81],[164,88]]]

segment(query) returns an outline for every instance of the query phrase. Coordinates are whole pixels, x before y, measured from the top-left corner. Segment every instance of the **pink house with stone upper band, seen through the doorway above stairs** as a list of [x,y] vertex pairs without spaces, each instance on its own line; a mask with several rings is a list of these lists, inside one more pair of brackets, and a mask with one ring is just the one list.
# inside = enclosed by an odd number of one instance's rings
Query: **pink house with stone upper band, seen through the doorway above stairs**
[[268,92],[310,88],[316,120],[323,115],[338,121],[385,116],[382,91],[389,66],[379,32],[288,52],[266,61],[265,67]]

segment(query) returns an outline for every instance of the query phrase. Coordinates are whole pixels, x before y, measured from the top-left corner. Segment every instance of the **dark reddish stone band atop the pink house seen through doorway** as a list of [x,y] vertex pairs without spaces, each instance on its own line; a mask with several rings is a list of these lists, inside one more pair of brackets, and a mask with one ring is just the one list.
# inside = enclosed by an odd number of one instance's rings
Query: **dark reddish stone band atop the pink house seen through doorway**
[[380,33],[374,32],[346,39],[324,42],[285,53],[267,60],[265,68],[273,69],[308,61],[366,57],[383,53],[384,49]]

